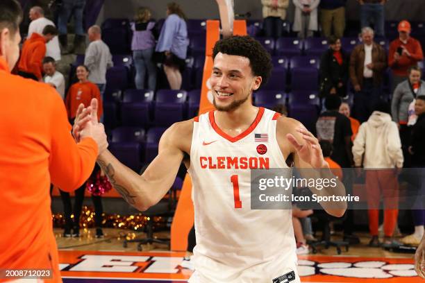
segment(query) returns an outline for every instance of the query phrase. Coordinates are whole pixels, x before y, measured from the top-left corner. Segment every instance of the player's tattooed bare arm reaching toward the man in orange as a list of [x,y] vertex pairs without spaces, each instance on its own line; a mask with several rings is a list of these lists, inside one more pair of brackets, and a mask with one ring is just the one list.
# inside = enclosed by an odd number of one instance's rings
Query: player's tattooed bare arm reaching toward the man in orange
[[97,159],[113,187],[127,203],[140,211],[158,203],[173,185],[183,160],[183,151],[178,148],[178,141],[182,139],[179,128],[181,126],[174,124],[165,131],[160,139],[158,156],[142,175],[119,162],[109,151]]

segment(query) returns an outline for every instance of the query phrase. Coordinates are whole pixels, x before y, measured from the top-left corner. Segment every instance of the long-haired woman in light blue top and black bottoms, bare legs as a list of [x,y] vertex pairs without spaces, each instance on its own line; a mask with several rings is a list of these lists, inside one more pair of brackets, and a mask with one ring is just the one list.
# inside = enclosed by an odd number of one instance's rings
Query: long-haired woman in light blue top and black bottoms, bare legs
[[177,3],[167,4],[167,19],[161,28],[156,51],[162,53],[165,75],[172,89],[181,88],[181,71],[188,53],[188,26],[186,16]]

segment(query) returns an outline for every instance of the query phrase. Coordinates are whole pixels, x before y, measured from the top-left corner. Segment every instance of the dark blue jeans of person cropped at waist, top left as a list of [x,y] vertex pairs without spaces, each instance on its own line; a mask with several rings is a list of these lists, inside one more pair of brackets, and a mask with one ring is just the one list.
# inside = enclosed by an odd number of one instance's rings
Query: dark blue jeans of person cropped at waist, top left
[[60,35],[67,34],[67,24],[69,17],[74,15],[75,34],[84,35],[83,12],[85,0],[63,0],[62,8],[58,15],[58,30]]

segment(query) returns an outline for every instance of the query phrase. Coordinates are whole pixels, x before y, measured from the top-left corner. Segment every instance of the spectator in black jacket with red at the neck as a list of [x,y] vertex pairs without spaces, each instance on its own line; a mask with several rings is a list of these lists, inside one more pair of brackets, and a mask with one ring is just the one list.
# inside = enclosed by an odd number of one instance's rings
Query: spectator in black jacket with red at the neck
[[[338,94],[344,97],[347,94],[347,80],[349,77],[349,57],[341,49],[341,40],[338,37],[329,37],[330,48],[323,53],[320,59],[320,80],[324,86],[323,94]],[[338,109],[337,109],[338,110]]]

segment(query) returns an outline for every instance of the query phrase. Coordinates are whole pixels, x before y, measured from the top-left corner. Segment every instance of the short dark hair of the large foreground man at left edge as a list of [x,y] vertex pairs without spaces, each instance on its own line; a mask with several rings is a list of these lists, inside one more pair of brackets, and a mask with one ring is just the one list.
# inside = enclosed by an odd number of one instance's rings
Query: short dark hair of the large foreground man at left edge
[[22,8],[16,0],[0,1],[0,31],[8,28],[15,35],[22,21]]

